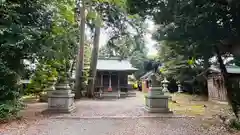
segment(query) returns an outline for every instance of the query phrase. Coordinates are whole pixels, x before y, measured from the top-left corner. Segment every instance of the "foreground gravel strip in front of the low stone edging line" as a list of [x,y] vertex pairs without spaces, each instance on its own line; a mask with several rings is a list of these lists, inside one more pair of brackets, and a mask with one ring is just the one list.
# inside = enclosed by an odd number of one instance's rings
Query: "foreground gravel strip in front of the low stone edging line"
[[226,135],[204,130],[192,119],[48,119],[3,135]]

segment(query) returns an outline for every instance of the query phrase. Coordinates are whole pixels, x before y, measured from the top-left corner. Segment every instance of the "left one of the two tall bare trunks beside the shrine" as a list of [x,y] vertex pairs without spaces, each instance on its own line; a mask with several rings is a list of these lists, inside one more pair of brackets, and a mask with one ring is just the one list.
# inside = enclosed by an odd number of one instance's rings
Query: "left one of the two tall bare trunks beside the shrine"
[[[77,5],[77,7],[79,7]],[[76,64],[76,72],[75,72],[75,98],[81,97],[81,90],[82,90],[82,76],[83,76],[83,64],[84,64],[84,39],[85,39],[85,2],[82,0],[82,7],[80,7],[80,17],[81,17],[81,24],[80,24],[80,44],[79,50],[77,55],[77,64]]]

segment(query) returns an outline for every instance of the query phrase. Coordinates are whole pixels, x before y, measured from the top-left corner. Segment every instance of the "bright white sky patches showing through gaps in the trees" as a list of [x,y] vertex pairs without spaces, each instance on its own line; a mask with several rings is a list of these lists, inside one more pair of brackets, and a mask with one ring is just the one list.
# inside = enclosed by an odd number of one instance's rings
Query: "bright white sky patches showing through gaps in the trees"
[[[152,33],[155,30],[155,24],[151,20],[146,20],[147,24],[147,33],[144,36],[144,40],[146,43],[146,47],[148,48],[148,55],[155,55],[157,54],[156,48],[154,48],[154,45],[157,43],[152,39]],[[100,47],[106,45],[107,41],[109,39],[109,35],[106,30],[101,29],[101,35],[100,35]]]

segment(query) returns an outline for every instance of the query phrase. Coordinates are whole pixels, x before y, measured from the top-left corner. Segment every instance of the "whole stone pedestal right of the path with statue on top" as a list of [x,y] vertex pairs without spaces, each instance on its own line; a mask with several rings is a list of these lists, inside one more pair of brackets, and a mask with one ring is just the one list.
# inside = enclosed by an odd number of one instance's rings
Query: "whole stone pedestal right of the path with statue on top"
[[145,96],[145,110],[150,113],[171,113],[168,108],[170,97],[164,95],[161,87],[157,84],[155,75],[151,76],[151,82],[148,95]]

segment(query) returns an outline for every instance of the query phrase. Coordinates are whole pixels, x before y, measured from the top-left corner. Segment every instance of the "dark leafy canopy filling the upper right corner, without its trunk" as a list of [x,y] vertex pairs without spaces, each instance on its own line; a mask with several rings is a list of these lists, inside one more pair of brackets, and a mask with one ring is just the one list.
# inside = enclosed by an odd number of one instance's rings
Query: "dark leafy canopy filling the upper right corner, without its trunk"
[[225,48],[238,44],[239,1],[226,4],[209,0],[129,0],[128,4],[130,13],[151,16],[159,25],[156,39],[181,42],[194,49],[196,56],[211,56],[212,45]]

